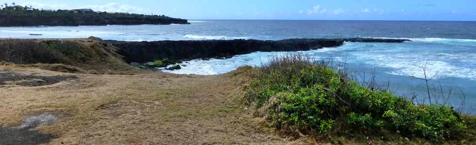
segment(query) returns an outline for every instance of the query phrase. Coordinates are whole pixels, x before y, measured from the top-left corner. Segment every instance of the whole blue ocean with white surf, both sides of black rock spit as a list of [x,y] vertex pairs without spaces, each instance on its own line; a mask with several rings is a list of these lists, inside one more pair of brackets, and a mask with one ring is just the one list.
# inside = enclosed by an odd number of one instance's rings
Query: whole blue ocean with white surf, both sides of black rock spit
[[[341,47],[301,51],[316,60],[345,64],[357,79],[375,75],[382,88],[397,95],[426,98],[423,66],[443,93],[453,88],[449,103],[476,113],[476,22],[464,21],[332,21],[332,20],[191,20],[191,25],[79,27],[0,27],[0,38],[79,38],[105,40],[281,40],[289,38],[405,38],[404,43],[345,43]],[[42,34],[33,36],[29,34]],[[213,75],[242,65],[260,66],[288,52],[254,52],[232,59],[192,60],[178,74]],[[365,76],[365,77],[364,77]],[[389,85],[390,84],[390,85]],[[442,101],[442,100],[440,100]]]

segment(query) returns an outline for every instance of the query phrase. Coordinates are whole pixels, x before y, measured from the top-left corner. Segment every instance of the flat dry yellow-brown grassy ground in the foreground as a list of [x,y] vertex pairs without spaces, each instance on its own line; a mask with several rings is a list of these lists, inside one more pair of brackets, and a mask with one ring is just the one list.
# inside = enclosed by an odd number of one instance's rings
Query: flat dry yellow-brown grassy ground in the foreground
[[302,143],[280,138],[262,119],[253,117],[238,103],[240,90],[227,75],[77,75],[2,69],[75,76],[43,86],[0,86],[0,127],[9,130],[29,116],[54,114],[57,121],[34,128],[51,136],[47,144]]

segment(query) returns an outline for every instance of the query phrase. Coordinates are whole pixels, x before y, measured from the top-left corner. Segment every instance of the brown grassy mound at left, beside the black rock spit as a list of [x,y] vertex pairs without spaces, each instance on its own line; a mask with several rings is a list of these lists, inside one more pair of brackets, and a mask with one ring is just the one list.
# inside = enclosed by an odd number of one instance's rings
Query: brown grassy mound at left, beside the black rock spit
[[[137,73],[116,48],[100,38],[0,39],[0,65],[18,64],[42,69],[92,74]],[[1,84],[1,81],[0,81]]]

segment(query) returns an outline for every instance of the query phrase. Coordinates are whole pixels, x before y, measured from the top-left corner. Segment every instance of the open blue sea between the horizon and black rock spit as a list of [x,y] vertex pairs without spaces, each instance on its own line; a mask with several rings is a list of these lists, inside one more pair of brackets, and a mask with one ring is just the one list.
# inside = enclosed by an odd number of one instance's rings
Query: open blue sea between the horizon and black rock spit
[[[288,38],[452,38],[476,39],[476,22],[464,21],[321,21],[321,20],[193,20],[192,25],[80,27],[0,27],[0,37],[78,38],[154,41],[193,39]],[[30,33],[43,34],[30,36]]]

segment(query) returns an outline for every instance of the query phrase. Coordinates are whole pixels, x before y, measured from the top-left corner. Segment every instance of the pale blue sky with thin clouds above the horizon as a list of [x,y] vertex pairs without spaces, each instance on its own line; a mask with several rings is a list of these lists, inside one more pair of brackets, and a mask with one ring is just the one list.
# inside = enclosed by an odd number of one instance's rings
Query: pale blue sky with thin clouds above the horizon
[[[43,9],[154,14],[185,19],[476,21],[476,0],[15,0]],[[5,3],[2,2],[2,3]]]

